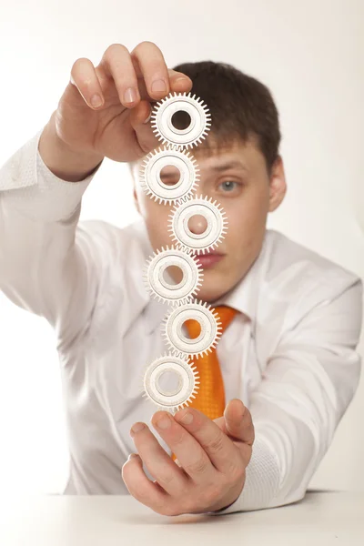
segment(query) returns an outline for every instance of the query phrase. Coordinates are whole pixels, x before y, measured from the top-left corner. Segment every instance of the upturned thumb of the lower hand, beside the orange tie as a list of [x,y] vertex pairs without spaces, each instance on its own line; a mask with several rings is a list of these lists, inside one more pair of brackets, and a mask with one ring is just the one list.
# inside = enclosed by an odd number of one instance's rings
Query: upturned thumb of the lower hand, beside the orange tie
[[240,399],[231,399],[224,411],[227,433],[238,440],[253,445],[254,426],[250,411]]

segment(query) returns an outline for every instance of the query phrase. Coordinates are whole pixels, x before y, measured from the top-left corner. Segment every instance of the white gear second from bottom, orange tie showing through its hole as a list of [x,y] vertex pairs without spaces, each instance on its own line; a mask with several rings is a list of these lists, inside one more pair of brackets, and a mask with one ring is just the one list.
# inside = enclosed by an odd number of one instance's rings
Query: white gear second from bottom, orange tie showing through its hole
[[[201,332],[196,339],[189,339],[182,331],[186,320],[194,319],[200,325]],[[221,337],[221,321],[216,311],[207,302],[195,300],[192,303],[173,308],[164,320],[163,336],[168,348],[177,357],[193,356],[198,359],[212,352]]]

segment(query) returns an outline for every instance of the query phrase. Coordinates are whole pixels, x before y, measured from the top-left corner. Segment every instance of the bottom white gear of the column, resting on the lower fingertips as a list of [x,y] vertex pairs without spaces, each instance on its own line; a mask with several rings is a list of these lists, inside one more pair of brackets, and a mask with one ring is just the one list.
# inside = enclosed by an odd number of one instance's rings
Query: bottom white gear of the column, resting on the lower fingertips
[[[177,389],[166,390],[161,387],[159,379],[165,372],[177,374]],[[196,398],[198,379],[197,368],[188,359],[166,354],[154,360],[143,372],[143,397],[150,399],[160,410],[173,413],[182,410]]]

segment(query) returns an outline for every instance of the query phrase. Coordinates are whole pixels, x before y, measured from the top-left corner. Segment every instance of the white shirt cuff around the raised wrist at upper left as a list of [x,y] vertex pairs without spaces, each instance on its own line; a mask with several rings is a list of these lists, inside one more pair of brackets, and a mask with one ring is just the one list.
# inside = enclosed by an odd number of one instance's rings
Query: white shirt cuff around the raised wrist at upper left
[[[39,154],[38,143],[43,128],[10,157],[0,169],[0,191],[11,190],[6,201],[25,216],[55,222],[73,217],[81,206],[91,175],[79,182],[56,177]],[[13,191],[15,190],[15,191]]]

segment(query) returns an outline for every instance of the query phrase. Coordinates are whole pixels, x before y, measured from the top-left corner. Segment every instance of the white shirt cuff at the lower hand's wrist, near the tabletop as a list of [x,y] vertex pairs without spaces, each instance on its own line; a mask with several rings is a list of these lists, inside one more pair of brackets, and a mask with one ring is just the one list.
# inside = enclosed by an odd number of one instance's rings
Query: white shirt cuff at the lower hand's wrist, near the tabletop
[[279,483],[280,468],[277,455],[265,440],[256,437],[246,470],[244,489],[238,499],[223,510],[207,512],[207,514],[219,516],[238,511],[269,508],[278,496]]

